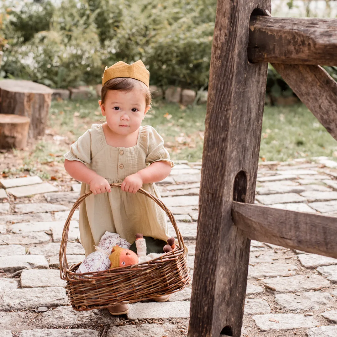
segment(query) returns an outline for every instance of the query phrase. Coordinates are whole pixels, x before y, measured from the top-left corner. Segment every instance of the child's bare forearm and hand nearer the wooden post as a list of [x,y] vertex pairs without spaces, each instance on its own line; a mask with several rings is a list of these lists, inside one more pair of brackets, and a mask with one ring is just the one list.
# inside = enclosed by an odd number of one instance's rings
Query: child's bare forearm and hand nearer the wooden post
[[171,162],[155,161],[143,170],[127,176],[121,186],[122,191],[136,193],[143,184],[156,183],[171,173]]

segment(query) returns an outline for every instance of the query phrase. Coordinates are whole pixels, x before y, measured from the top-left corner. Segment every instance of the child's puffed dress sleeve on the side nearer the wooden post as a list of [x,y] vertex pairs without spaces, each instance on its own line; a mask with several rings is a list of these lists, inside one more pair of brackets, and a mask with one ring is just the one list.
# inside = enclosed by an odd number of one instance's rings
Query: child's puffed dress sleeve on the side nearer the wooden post
[[156,161],[167,161],[174,166],[173,161],[170,159],[170,154],[164,148],[164,141],[160,134],[153,128],[149,127],[148,130],[148,153],[146,156],[146,164],[150,165]]

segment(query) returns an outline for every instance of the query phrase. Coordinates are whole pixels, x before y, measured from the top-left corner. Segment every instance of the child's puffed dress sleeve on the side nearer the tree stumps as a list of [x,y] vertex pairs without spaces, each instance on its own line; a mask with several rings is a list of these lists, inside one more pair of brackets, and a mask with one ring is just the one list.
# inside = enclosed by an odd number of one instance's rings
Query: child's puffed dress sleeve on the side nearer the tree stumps
[[68,160],[77,160],[84,164],[90,164],[91,153],[91,129],[83,133],[79,139],[71,144],[70,150],[64,155]]

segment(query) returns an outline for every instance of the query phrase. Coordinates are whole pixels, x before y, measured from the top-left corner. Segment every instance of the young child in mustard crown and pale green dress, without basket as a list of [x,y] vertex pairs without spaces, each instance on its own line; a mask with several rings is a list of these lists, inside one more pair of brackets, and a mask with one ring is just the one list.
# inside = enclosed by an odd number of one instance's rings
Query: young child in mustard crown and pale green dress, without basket
[[[150,73],[141,60],[119,61],[105,68],[101,100],[103,124],[93,124],[70,147],[64,167],[82,182],[81,195],[92,191],[80,205],[79,227],[86,256],[108,231],[132,243],[135,234],[166,241],[170,237],[165,212],[141,187],[160,198],[155,182],[174,166],[162,137],[151,126],[141,126],[150,109]],[[111,183],[122,184],[111,188]],[[154,300],[164,302],[170,295]],[[128,306],[108,308],[111,314],[128,312]]]

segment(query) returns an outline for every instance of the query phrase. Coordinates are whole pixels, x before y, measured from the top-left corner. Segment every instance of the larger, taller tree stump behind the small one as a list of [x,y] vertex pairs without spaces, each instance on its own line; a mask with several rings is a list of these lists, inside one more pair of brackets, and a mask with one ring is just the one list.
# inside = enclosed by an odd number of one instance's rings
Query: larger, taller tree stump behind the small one
[[0,81],[0,114],[27,116],[29,138],[44,135],[53,90],[31,81]]

